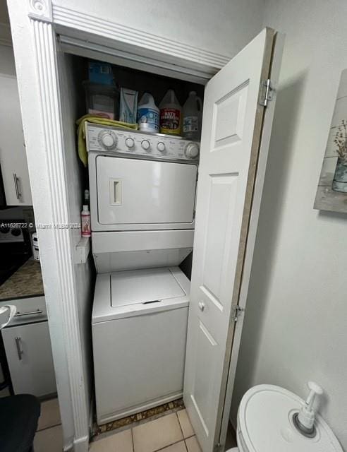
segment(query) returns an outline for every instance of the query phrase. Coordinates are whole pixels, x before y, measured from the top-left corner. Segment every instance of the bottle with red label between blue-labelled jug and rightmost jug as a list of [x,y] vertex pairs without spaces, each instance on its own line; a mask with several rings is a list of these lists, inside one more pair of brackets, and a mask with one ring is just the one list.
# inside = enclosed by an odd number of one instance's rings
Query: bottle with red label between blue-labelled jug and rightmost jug
[[164,95],[160,108],[160,133],[169,135],[181,135],[182,109],[176,94],[168,90]]

